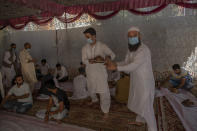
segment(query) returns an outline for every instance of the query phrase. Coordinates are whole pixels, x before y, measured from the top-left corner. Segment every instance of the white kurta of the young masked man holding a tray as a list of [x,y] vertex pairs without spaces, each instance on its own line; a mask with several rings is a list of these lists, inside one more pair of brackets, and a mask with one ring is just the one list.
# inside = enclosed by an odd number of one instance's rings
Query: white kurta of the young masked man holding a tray
[[86,64],[86,74],[88,82],[88,91],[92,93],[106,93],[109,92],[107,82],[107,70],[104,64],[95,63],[90,64],[89,59],[94,59],[97,56],[105,58],[111,56],[113,60],[115,54],[105,44],[97,42],[96,45],[91,46],[86,44],[82,49],[82,61]]

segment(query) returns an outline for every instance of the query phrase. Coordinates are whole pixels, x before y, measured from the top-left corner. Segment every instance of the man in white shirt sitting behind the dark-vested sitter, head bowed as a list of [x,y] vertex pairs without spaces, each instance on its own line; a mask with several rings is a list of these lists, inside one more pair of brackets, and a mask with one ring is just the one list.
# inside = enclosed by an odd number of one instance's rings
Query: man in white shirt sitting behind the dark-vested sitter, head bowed
[[56,65],[54,78],[56,78],[58,82],[65,82],[68,80],[68,72],[61,64]]

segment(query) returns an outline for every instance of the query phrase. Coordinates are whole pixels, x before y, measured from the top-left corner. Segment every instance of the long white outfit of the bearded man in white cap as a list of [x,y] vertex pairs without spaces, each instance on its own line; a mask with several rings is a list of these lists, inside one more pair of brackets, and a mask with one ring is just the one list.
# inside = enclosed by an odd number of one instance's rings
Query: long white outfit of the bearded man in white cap
[[118,71],[130,72],[128,108],[138,114],[136,121],[143,122],[142,117],[149,131],[157,131],[153,109],[155,81],[148,47],[142,44],[136,52],[128,52],[125,61],[118,64]]

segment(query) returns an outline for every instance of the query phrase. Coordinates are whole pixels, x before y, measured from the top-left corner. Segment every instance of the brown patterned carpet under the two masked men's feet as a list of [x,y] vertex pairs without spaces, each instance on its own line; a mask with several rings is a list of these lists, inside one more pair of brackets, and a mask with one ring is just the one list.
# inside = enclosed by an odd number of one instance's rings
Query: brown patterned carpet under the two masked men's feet
[[[86,100],[88,101],[88,100]],[[99,104],[87,106],[81,101],[71,101],[69,116],[63,122],[94,129],[97,131],[147,131],[147,125],[137,127],[128,125],[128,121],[135,120],[135,113],[130,112],[126,105],[119,104],[112,99],[109,119],[102,119]],[[34,106],[28,111],[28,115],[35,116],[40,109],[45,109],[47,101],[34,101]],[[184,131],[179,118],[165,97],[155,98],[155,117],[159,131]]]

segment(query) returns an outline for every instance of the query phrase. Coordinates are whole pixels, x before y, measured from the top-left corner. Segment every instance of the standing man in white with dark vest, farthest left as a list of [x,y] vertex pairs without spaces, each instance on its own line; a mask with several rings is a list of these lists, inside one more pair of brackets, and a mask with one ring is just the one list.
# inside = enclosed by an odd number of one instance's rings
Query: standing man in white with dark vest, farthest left
[[16,63],[16,44],[12,43],[10,49],[5,52],[3,62],[2,62],[2,75],[5,78],[5,86],[11,87],[12,80],[14,79],[15,63]]

